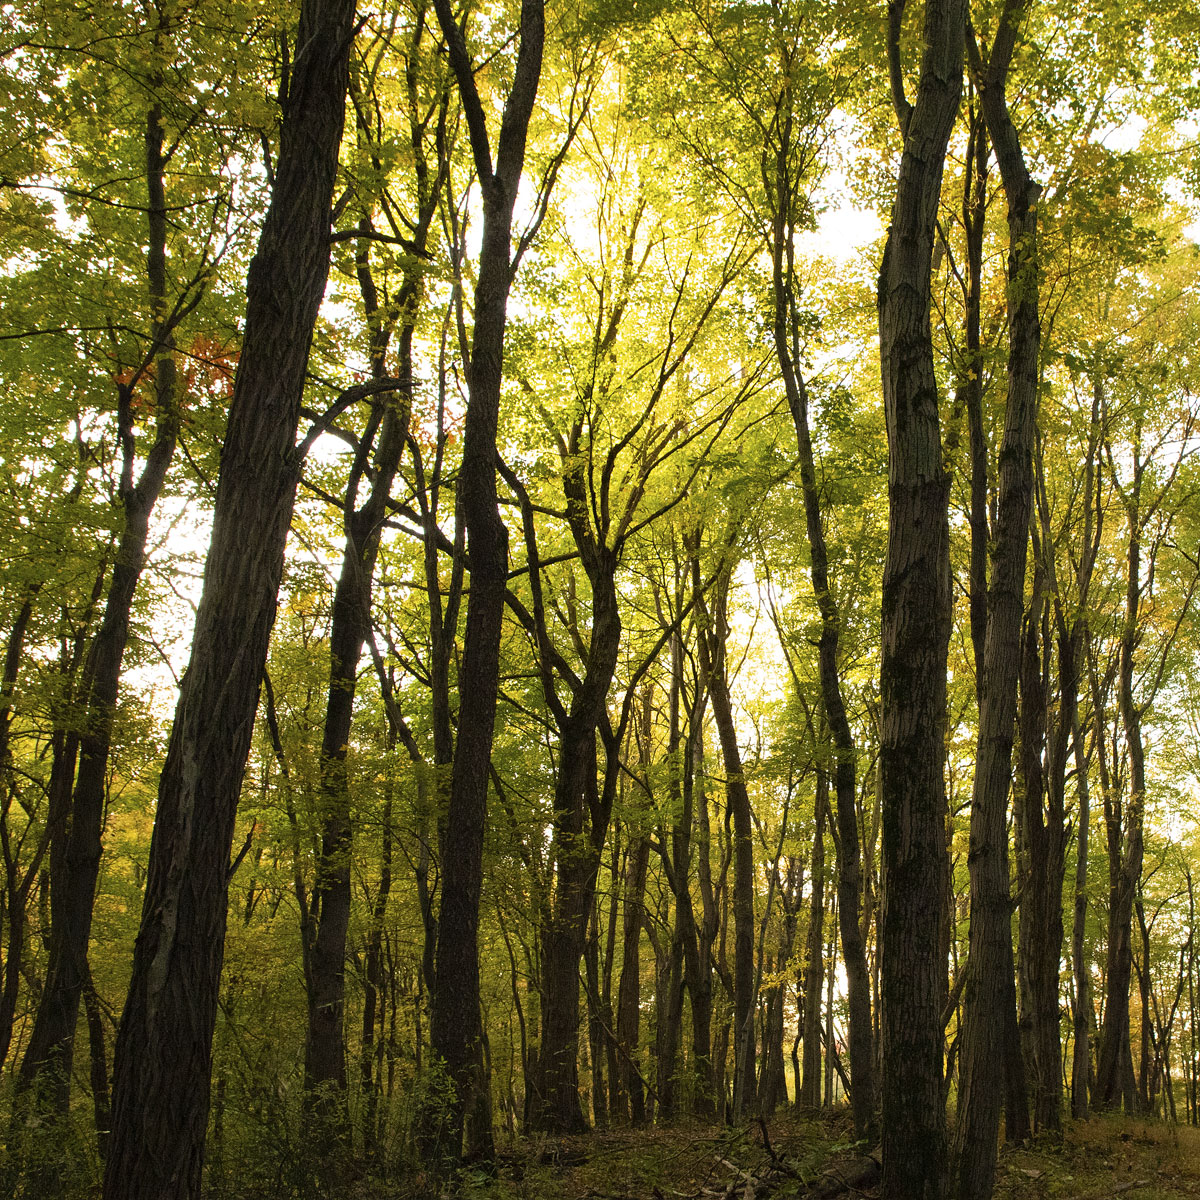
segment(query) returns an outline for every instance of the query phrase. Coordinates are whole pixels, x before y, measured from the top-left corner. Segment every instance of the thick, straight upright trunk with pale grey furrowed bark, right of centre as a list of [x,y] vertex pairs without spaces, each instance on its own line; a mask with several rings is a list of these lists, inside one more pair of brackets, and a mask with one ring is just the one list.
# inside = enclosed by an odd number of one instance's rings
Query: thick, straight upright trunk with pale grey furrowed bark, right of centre
[[964,6],[928,0],[912,107],[900,83],[901,8],[898,0],[889,6],[889,58],[905,146],[878,295],[889,449],[880,674],[883,1192],[938,1200],[946,1163],[940,914],[946,905],[950,571],[930,275],[946,150],[962,86]]

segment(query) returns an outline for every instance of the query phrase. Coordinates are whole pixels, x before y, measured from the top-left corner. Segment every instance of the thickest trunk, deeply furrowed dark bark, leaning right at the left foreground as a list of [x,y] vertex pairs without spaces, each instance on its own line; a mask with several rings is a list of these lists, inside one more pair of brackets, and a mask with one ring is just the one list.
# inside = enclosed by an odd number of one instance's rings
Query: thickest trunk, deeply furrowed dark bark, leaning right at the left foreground
[[118,1033],[107,1200],[200,1192],[229,846],[295,499],[295,434],[329,270],[353,17],[349,0],[305,0],[300,13],[275,186],[247,282],[204,593]]

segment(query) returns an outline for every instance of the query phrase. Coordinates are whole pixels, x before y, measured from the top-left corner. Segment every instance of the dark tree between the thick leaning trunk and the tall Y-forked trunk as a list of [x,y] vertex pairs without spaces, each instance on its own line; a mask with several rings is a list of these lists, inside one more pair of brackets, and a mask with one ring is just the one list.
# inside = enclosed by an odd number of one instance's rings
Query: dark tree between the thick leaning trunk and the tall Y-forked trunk
[[[394,36],[394,35],[392,35]],[[414,330],[421,308],[425,260],[430,233],[442,200],[445,174],[444,142],[446,124],[445,89],[434,84],[432,97],[421,97],[415,80],[430,52],[422,44],[428,30],[422,20],[408,32],[406,74],[413,80],[408,89],[408,149],[413,162],[410,184],[412,214],[397,203],[394,188],[380,190],[377,200],[368,181],[356,185],[359,192],[358,245],[354,272],[359,284],[368,335],[368,360],[373,380],[397,378],[397,391],[380,391],[371,400],[366,428],[359,436],[342,499],[346,533],[342,565],[334,592],[329,634],[329,686],[325,722],[322,731],[319,809],[322,847],[317,877],[312,889],[307,928],[306,984],[308,990],[308,1030],[305,1039],[305,1087],[314,1118],[314,1134],[326,1145],[349,1138],[346,1109],[346,958],[350,919],[350,850],[353,818],[347,754],[354,715],[354,695],[359,661],[371,629],[371,600],[379,541],[388,514],[392,485],[409,438],[413,409]],[[365,56],[370,56],[367,48]],[[385,136],[382,103],[373,86],[356,94],[359,137],[366,143],[367,157],[374,172],[383,174],[379,140]],[[376,109],[376,120],[370,114]],[[372,145],[374,142],[374,145]],[[434,145],[430,145],[433,142]],[[433,161],[431,163],[431,154]],[[383,290],[372,269],[374,242],[373,211],[377,204],[390,224],[390,236],[403,250],[400,283],[395,295]],[[389,347],[397,332],[396,371],[388,371]],[[366,496],[360,500],[360,491]],[[394,722],[396,724],[396,722]]]

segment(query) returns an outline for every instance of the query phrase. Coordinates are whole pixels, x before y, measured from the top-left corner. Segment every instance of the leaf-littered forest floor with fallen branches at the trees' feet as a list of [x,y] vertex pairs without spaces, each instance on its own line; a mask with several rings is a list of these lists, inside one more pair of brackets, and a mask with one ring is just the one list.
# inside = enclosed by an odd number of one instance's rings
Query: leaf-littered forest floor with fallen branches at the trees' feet
[[[776,1115],[739,1129],[683,1126],[530,1139],[493,1174],[467,1170],[445,1200],[772,1200],[878,1196],[877,1163],[842,1114]],[[848,1182],[847,1182],[848,1181]],[[439,1193],[412,1180],[397,1200]],[[996,1200],[1200,1196],[1200,1129],[1127,1117],[1072,1123],[1061,1141],[1004,1148]]]

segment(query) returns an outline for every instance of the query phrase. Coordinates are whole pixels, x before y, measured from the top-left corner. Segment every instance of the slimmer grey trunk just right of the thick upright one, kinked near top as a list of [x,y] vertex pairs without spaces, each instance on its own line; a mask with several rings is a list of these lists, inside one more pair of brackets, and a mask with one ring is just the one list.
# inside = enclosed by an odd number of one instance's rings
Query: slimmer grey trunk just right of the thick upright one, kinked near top
[[965,997],[955,1133],[960,1200],[985,1200],[991,1195],[1004,1094],[1003,1031],[1012,1018],[1006,1006],[1013,978],[1007,812],[1032,515],[1040,347],[1036,274],[1038,188],[1026,170],[1004,98],[1024,5],[1025,0],[1006,4],[985,71],[978,64],[978,55],[972,54],[972,67],[982,76],[980,103],[1008,198],[1009,346],[971,798],[971,978]]

